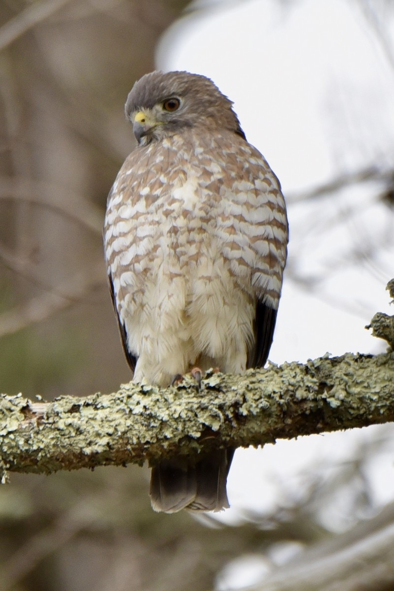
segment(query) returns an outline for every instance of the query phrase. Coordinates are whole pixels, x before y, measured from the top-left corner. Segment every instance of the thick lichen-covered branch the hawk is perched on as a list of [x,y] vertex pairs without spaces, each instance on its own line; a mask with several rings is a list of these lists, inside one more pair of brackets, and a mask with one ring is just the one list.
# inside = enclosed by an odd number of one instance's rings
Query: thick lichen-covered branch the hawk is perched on
[[0,398],[3,471],[154,463],[216,446],[257,446],[394,420],[394,355],[328,355],[245,375],[213,371],[167,389],[31,402]]

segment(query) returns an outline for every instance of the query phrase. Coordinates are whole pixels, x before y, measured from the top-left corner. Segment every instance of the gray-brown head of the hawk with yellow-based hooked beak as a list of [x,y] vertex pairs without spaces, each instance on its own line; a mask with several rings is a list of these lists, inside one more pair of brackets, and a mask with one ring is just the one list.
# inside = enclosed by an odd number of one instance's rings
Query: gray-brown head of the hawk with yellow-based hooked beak
[[227,129],[245,138],[232,104],[205,76],[157,71],[137,80],[125,111],[141,145],[195,126]]

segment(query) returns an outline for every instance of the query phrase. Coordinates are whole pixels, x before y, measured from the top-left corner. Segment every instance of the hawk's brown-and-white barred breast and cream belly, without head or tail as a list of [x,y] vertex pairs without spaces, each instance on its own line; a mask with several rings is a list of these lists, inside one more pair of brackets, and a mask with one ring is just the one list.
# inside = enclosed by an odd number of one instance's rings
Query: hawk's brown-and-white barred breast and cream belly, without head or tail
[[277,308],[286,236],[278,181],[242,138],[189,131],[133,152],[105,243],[127,346],[156,360],[137,378],[166,382],[201,356],[245,369],[256,298]]

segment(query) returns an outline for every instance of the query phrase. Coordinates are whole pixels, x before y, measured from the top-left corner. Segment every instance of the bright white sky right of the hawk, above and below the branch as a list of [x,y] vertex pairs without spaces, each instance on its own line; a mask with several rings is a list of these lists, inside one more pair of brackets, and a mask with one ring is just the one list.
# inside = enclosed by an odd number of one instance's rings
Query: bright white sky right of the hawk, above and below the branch
[[[302,198],[344,174],[394,168],[390,2],[211,3],[170,28],[157,66],[211,77],[281,180],[290,248],[271,361],[385,350],[364,329],[376,311],[393,313],[385,286],[394,277],[394,215],[376,200],[385,185],[371,180]],[[238,450],[228,482],[232,508],[220,518],[237,521],[247,508],[270,514],[302,498],[306,475],[330,478],[333,462],[351,458],[382,429],[388,427]],[[391,442],[370,461],[377,506],[394,498],[393,460]],[[335,507],[327,502],[324,525],[352,525],[344,519],[349,502],[346,495],[333,499]]]

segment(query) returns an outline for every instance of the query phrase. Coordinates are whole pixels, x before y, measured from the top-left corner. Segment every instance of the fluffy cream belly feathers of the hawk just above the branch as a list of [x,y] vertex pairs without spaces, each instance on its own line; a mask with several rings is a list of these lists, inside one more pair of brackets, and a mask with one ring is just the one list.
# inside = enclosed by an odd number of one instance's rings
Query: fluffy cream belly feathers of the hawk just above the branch
[[182,255],[179,244],[164,246],[145,269],[121,278],[120,316],[139,357],[134,381],[168,385],[196,362],[244,371],[254,320],[248,282],[232,275],[216,239],[195,241],[197,256]]

